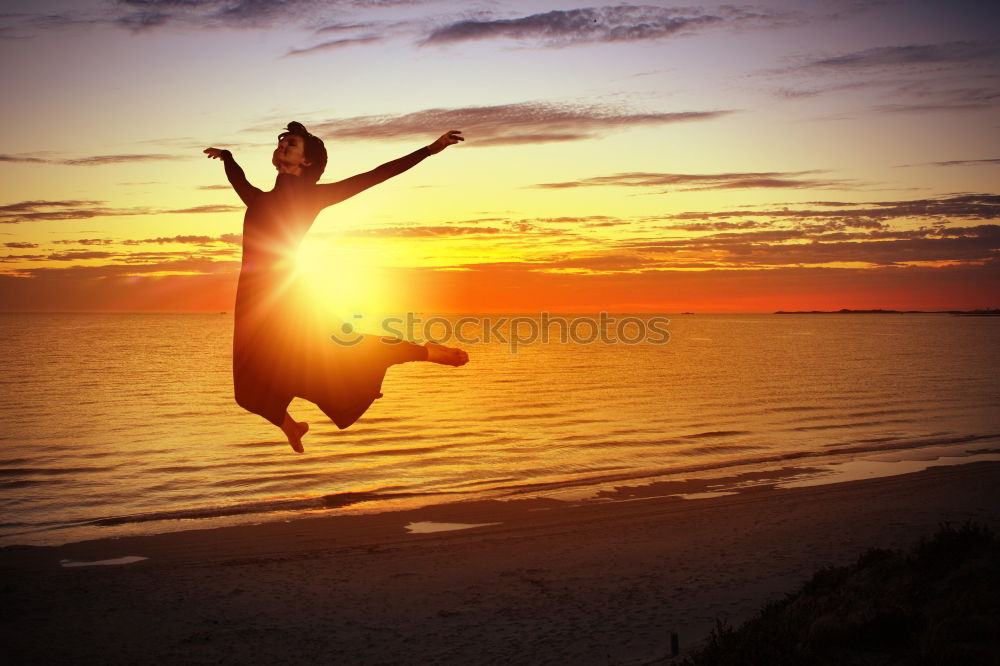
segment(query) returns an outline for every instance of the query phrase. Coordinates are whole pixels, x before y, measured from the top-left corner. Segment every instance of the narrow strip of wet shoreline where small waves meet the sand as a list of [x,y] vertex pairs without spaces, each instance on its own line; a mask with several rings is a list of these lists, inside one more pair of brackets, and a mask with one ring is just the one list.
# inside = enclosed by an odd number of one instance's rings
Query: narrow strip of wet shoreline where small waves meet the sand
[[[0,537],[0,552],[6,548],[59,547],[79,542],[156,536],[190,530],[216,530],[274,522],[309,520],[316,517],[370,516],[401,513],[431,506],[455,507],[482,502],[510,502],[524,499],[552,499],[557,502],[586,503],[636,497],[674,496],[685,500],[712,498],[761,486],[794,488],[840,483],[849,480],[882,478],[921,471],[929,467],[962,465],[979,461],[1000,461],[1000,448],[978,446],[1000,435],[935,438],[886,447],[854,445],[825,452],[779,454],[752,459],[716,461],[665,468],[650,475],[644,471],[604,474],[550,484],[527,484],[522,489],[499,495],[454,492],[344,491],[312,497],[273,498],[249,502],[252,510],[240,505],[208,505],[166,509],[126,516],[107,516],[77,524],[35,529]],[[952,450],[955,444],[965,444]],[[906,453],[910,455],[905,455]],[[851,457],[838,459],[838,454]],[[862,458],[855,458],[856,455]],[[900,454],[903,454],[900,456]],[[719,476],[715,476],[718,474]],[[564,499],[569,498],[569,499]],[[267,505],[267,506],[264,506]],[[93,534],[104,532],[104,534]],[[63,535],[62,539],[38,539],[39,535]],[[13,542],[27,537],[22,543]],[[7,542],[7,543],[5,543]]]

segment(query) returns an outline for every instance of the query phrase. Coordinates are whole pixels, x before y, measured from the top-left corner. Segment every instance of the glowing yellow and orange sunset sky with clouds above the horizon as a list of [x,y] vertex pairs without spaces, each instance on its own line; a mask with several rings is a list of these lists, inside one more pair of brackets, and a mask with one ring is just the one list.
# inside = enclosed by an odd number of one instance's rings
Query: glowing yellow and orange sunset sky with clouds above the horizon
[[0,310],[231,311],[296,120],[356,311],[1000,306],[1000,3],[0,1]]

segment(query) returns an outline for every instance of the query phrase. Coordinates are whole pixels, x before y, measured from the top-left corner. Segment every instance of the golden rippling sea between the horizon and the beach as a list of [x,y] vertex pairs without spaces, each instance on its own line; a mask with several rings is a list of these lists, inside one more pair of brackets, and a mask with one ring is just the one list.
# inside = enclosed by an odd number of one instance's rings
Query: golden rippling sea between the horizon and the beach
[[667,344],[493,341],[467,347],[463,368],[396,366],[343,431],[296,400],[312,426],[296,455],[232,400],[230,315],[2,314],[0,544],[1000,447],[1000,318],[674,315],[667,328]]

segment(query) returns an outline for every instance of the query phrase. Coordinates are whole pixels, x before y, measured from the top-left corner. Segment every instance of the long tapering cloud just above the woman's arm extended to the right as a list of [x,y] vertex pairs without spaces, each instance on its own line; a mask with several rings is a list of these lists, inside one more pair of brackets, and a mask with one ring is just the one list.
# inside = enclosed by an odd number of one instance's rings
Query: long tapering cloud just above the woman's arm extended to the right
[[[356,116],[319,123],[312,131],[341,139],[426,138],[428,127],[461,129],[469,145],[574,141],[644,125],[714,120],[732,111],[631,113],[612,107],[522,102],[458,109],[426,109],[397,116]],[[474,140],[473,140],[474,139]]]

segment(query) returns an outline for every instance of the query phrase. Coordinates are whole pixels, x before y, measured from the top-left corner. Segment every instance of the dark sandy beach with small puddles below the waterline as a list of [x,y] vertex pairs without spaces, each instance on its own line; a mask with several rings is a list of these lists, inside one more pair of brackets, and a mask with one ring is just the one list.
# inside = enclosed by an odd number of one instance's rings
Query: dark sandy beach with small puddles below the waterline
[[[1000,463],[684,500],[439,505],[0,550],[8,663],[666,663],[828,565],[1000,527]],[[411,533],[421,522],[495,523]],[[64,564],[136,556],[117,566]]]

